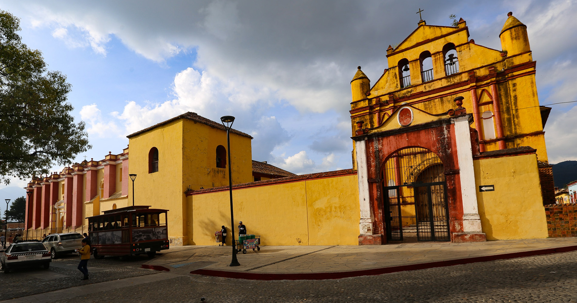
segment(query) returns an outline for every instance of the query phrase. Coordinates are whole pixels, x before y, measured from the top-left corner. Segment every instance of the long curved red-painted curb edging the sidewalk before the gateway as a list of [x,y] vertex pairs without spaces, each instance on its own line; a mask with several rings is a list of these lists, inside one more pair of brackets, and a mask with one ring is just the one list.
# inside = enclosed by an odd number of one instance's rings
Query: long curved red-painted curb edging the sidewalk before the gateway
[[461,264],[488,262],[494,260],[512,259],[515,257],[529,257],[538,255],[548,255],[549,253],[570,252],[577,251],[577,245],[557,248],[538,249],[536,251],[526,252],[511,252],[502,253],[500,255],[482,256],[482,257],[468,257],[464,259],[445,260],[429,263],[410,264],[393,267],[373,268],[370,270],[354,270],[354,271],[339,271],[339,272],[299,272],[296,274],[269,274],[256,273],[246,271],[222,271],[222,270],[193,270],[190,273],[194,275],[207,275],[211,277],[223,277],[234,279],[248,279],[248,280],[324,280],[324,279],[342,279],[350,277],[359,277],[365,275],[380,275],[391,272],[408,271],[408,270],[424,270],[426,268],[454,266]]

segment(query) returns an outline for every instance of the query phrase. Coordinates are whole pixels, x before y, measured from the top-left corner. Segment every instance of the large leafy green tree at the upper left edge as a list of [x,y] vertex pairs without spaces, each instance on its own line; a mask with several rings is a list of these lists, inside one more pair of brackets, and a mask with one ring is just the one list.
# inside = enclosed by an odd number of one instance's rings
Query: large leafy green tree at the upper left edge
[[0,181],[47,175],[90,149],[84,122],[74,123],[70,84],[50,71],[18,35],[20,20],[0,10]]

